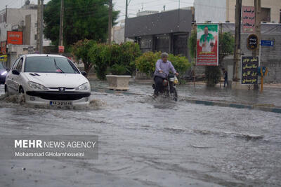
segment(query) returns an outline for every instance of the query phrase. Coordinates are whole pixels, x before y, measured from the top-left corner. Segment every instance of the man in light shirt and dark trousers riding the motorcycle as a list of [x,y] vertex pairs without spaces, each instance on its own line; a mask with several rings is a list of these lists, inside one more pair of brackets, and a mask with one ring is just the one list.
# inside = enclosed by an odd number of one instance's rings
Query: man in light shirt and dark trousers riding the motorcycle
[[164,78],[167,78],[169,75],[169,71],[172,71],[176,76],[178,73],[174,68],[173,64],[168,60],[168,53],[162,53],[161,59],[157,60],[155,65],[155,73],[154,73],[154,81],[155,81],[155,90],[154,95],[157,97],[159,92],[162,92],[164,86],[163,81]]

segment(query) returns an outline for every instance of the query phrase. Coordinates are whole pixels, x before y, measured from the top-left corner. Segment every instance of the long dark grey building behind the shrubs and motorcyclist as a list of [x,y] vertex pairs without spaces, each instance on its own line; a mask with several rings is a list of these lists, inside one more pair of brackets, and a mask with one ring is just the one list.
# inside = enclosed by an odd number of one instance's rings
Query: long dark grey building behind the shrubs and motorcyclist
[[188,57],[191,25],[191,10],[164,11],[127,19],[125,37],[138,42],[143,52],[161,51]]

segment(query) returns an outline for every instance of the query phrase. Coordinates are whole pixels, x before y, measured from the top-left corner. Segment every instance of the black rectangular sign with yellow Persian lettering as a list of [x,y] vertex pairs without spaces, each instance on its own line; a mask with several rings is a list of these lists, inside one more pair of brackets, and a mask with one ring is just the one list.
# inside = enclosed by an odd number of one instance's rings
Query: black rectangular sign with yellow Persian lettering
[[241,84],[258,83],[259,57],[241,57]]

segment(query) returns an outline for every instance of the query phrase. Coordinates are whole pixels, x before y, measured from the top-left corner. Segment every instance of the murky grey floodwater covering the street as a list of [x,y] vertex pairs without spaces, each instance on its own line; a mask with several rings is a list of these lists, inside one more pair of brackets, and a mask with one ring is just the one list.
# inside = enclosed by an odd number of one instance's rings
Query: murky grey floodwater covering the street
[[153,100],[148,85],[130,90],[141,95],[92,92],[87,108],[42,109],[4,97],[0,85],[1,135],[99,141],[97,160],[4,160],[1,186],[280,186],[280,113]]

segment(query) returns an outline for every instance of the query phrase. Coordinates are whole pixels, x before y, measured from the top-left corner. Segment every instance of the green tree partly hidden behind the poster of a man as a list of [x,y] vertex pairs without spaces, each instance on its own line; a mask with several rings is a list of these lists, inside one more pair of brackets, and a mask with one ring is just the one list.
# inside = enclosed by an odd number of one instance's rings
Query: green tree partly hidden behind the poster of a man
[[[192,34],[189,38],[189,48],[190,48],[190,56],[195,57],[196,54],[196,39],[197,33],[196,31],[192,31]],[[221,63],[223,62],[223,58],[227,55],[232,55],[234,52],[234,37],[229,32],[223,32],[219,34],[218,37],[219,51],[218,54],[218,67],[205,67],[205,76],[207,79],[207,86],[215,86],[221,78]]]

